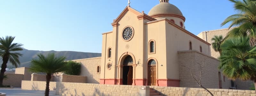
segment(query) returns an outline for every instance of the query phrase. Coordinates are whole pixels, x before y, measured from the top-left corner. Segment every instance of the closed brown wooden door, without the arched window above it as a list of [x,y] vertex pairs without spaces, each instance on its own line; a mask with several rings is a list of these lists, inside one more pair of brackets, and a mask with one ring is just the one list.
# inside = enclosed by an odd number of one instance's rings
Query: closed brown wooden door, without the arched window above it
[[156,85],[156,66],[148,66],[148,85]]

